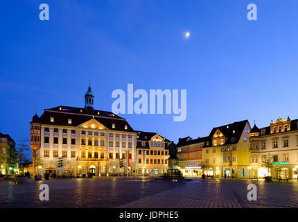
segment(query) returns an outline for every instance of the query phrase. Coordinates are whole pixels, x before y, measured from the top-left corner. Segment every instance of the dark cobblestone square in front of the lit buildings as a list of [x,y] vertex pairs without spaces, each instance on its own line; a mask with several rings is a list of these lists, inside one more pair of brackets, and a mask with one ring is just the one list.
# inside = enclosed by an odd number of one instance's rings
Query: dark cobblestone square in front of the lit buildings
[[[39,187],[49,185],[49,201]],[[247,200],[247,185],[257,187],[257,200]],[[155,178],[92,178],[0,182],[0,207],[119,207],[119,208],[247,208],[298,207],[298,182],[263,180]]]

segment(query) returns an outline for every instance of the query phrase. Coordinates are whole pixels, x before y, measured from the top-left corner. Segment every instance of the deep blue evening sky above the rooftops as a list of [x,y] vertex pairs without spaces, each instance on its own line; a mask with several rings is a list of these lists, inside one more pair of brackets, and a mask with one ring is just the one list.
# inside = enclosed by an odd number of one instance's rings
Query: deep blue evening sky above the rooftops
[[[50,7],[39,19],[40,3]],[[247,20],[248,3],[258,21]],[[82,107],[89,81],[95,108],[114,89],[187,89],[187,119],[125,117],[135,130],[177,142],[254,119],[298,118],[298,1],[1,1],[0,132],[29,137],[35,114]],[[191,38],[184,40],[184,31]]]

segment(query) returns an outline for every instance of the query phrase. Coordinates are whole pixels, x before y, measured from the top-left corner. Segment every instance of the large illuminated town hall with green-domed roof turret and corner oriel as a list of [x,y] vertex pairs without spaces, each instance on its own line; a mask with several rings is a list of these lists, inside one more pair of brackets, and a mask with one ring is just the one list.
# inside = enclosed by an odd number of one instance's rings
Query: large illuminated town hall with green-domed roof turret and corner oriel
[[94,110],[90,86],[85,108],[60,105],[30,122],[34,175],[134,175],[136,146],[137,132],[125,119]]

